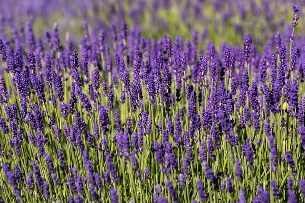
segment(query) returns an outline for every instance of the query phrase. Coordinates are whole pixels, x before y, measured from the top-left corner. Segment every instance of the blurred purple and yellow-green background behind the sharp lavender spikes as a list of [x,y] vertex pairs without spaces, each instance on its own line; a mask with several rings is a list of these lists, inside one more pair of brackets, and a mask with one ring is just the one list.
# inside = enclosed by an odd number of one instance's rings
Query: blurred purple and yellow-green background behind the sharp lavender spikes
[[[253,36],[257,49],[262,49],[276,31],[289,40],[293,12],[291,4],[300,9],[300,24],[296,34],[303,33],[302,16],[305,1],[288,0],[12,0],[0,1],[0,33],[9,35],[10,27],[16,26],[22,33],[26,23],[33,23],[36,35],[44,35],[58,23],[60,38],[67,33],[73,41],[81,39],[83,21],[89,30],[105,30],[110,40],[110,25],[119,29],[126,20],[130,32],[141,32],[144,37],[192,39],[198,32],[199,47],[204,49],[212,41],[219,49],[221,43],[242,45],[242,37],[248,32]],[[298,39],[301,40],[301,39]],[[63,43],[64,40],[62,40]]]

